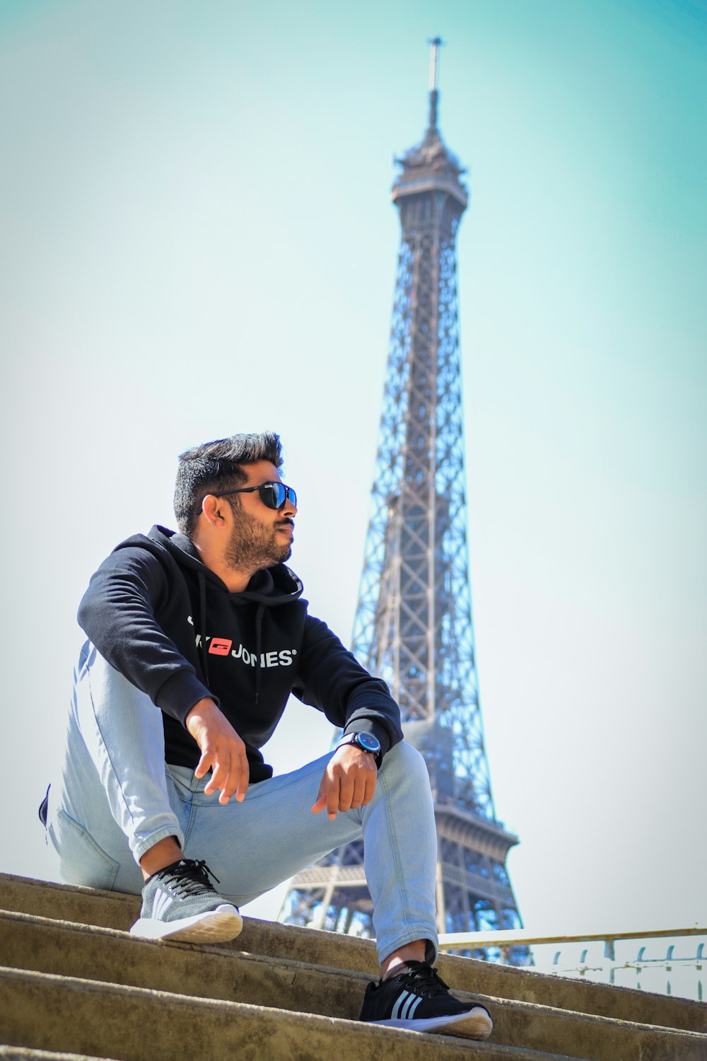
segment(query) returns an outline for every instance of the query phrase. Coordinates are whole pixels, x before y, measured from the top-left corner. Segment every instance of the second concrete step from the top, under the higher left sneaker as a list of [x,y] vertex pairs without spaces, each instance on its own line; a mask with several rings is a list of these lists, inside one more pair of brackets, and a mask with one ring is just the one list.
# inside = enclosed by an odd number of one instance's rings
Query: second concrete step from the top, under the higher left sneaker
[[[331,967],[222,946],[139,940],[116,929],[0,911],[5,966],[160,992],[356,1021],[369,977]],[[591,1061],[684,1058],[707,1037],[485,995],[493,1039]],[[697,1053],[695,1056],[702,1057]]]

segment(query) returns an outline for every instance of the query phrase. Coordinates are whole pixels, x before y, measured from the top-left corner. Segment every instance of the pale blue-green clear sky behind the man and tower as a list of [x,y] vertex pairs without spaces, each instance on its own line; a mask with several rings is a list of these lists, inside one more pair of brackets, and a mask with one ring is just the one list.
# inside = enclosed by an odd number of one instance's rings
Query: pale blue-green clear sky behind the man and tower
[[[472,596],[509,871],[537,932],[707,921],[707,4],[0,0],[0,871],[75,612],[174,526],[177,455],[269,428],[291,567],[351,636],[399,241],[427,117],[458,238]],[[278,772],[331,731],[295,703]],[[252,910],[277,914],[281,898]]]

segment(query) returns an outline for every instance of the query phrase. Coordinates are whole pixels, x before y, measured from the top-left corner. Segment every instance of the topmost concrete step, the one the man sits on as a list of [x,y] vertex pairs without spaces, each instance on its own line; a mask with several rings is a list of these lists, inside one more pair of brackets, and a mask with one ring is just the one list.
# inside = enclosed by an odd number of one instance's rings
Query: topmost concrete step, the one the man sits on
[[[140,900],[120,892],[0,874],[0,907],[126,930],[138,917]],[[245,918],[241,936],[224,946],[271,958],[347,969],[369,978],[377,971],[375,946],[371,940],[253,918]],[[440,957],[438,968],[457,992],[467,991],[623,1022],[707,1032],[707,1006],[690,999],[448,955]]]

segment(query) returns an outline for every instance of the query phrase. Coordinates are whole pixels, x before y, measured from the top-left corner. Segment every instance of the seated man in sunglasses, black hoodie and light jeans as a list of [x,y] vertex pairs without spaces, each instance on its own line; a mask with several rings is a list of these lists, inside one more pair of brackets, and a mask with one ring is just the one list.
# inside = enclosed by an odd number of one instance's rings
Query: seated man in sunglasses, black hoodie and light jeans
[[[430,964],[424,761],[385,683],[307,614],[283,562],[297,499],[281,465],[271,433],[187,451],[179,534],[127,539],[91,578],[63,770],[42,806],[61,874],[142,892],[136,936],[218,941],[241,930],[240,904],[363,837],[381,979],[360,1019],[485,1039],[487,1010],[454,998]],[[290,693],[343,735],[273,778],[260,748]]]

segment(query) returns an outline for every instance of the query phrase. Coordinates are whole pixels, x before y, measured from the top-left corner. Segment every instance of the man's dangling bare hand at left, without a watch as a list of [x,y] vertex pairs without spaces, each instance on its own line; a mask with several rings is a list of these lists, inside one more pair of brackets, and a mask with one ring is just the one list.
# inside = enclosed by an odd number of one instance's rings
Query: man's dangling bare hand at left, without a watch
[[234,793],[238,803],[243,802],[250,778],[246,746],[228,718],[205,697],[187,715],[187,729],[201,751],[194,775],[202,778],[209,768],[212,771],[205,793],[220,788],[219,803],[228,803]]

